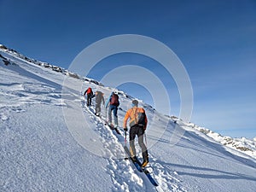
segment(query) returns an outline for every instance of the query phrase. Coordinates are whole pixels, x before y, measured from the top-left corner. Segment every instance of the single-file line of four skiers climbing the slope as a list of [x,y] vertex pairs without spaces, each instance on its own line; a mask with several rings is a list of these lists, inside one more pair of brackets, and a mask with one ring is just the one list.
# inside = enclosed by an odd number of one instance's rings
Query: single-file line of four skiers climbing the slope
[[[108,100],[105,103],[104,101],[104,93],[102,91],[97,90],[96,94],[93,94],[93,91],[89,87],[84,91],[84,96],[87,96],[87,106],[91,106],[91,99],[96,97],[96,115],[101,115],[101,104],[105,105],[105,108],[108,109],[108,125],[114,128],[118,127],[118,107],[119,107],[119,96],[118,93],[112,92],[110,96],[108,96]],[[113,123],[112,123],[112,113],[113,113]],[[106,113],[107,114],[107,113]],[[143,142],[143,135],[147,129],[148,119],[143,108],[138,107],[138,101],[133,100],[131,102],[131,108],[127,110],[125,113],[123,128],[124,131],[128,131],[127,121],[130,119],[130,131],[129,131],[129,141],[130,141],[130,152],[131,158],[136,157],[136,148],[135,148],[135,138],[138,137],[138,144],[142,148],[143,151],[143,167],[148,164],[148,149],[145,143]]]

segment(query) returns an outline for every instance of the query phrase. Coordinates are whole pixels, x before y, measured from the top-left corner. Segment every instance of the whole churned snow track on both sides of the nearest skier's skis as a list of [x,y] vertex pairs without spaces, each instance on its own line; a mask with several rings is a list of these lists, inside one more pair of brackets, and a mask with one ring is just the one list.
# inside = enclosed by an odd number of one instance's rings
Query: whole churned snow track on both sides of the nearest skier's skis
[[[92,107],[85,107],[85,102],[82,101],[82,108],[84,112],[90,115],[91,123],[96,124],[96,131],[102,137],[102,143],[104,143],[105,149],[107,149],[109,156],[108,169],[106,172],[111,176],[113,185],[115,188],[113,191],[187,191],[181,186],[181,180],[177,177],[177,172],[173,172],[171,169],[161,166],[158,160],[150,156],[149,166],[147,169],[149,172],[153,172],[152,176],[159,183],[158,187],[154,187],[149,181],[148,177],[145,177],[143,173],[137,172],[137,169],[131,164],[129,160],[124,160],[125,150],[124,145],[124,132],[121,135],[111,131],[108,125],[105,125],[104,120],[96,117],[95,110]],[[121,130],[119,128],[119,130]],[[129,144],[129,143],[127,143]],[[137,148],[139,148],[137,146]],[[122,158],[117,159],[118,154],[124,154]],[[149,153],[150,155],[150,153]]]

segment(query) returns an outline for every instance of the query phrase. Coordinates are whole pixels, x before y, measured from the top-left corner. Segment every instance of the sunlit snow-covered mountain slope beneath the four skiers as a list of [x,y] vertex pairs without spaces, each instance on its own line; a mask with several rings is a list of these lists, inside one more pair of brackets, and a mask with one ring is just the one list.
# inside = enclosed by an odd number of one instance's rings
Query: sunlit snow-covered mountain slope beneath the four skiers
[[[159,183],[154,188],[123,160],[124,132],[116,135],[96,118],[94,108],[84,107],[81,91],[88,86],[102,90],[105,98],[112,89],[67,77],[64,70],[58,73],[35,65],[14,52],[2,49],[0,54],[0,191],[255,191],[253,157],[225,147],[182,121],[174,124],[140,102],[149,119],[148,170]],[[75,98],[73,106],[89,122],[86,126],[91,131],[84,133],[84,139],[102,143],[104,157],[83,148],[66,125],[62,110],[70,106],[61,98],[65,78],[68,94]],[[119,96],[122,125],[131,96],[123,92]],[[74,123],[83,127],[84,122]],[[178,143],[170,139],[183,131]]]

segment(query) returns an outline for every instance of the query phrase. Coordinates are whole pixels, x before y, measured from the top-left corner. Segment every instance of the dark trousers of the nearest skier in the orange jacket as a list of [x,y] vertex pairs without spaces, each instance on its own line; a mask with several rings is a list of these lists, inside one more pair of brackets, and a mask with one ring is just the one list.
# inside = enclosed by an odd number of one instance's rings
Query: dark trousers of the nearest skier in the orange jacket
[[143,160],[148,161],[148,149],[147,149],[146,145],[143,143],[143,134],[144,134],[143,126],[134,125],[131,127],[131,129],[130,129],[130,151],[131,151],[132,156],[136,155],[134,140],[135,140],[135,137],[137,136],[139,146],[143,150]]

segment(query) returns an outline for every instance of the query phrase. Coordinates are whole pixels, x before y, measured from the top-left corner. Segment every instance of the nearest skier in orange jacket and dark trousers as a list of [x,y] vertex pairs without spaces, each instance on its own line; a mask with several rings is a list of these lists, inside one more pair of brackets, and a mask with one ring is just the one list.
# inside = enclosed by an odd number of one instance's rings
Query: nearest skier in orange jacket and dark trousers
[[124,130],[128,131],[127,129],[127,120],[130,119],[130,151],[131,157],[136,156],[136,149],[135,149],[135,137],[138,137],[139,146],[142,148],[143,151],[143,167],[148,165],[148,149],[146,145],[143,143],[143,134],[147,128],[148,119],[143,108],[138,108],[137,100],[132,101],[132,108],[128,109],[125,113],[124,119]]

